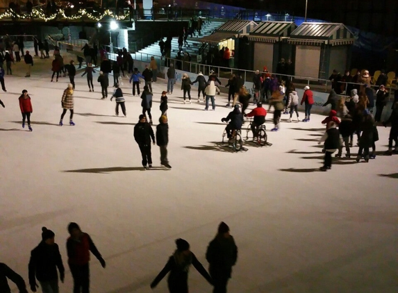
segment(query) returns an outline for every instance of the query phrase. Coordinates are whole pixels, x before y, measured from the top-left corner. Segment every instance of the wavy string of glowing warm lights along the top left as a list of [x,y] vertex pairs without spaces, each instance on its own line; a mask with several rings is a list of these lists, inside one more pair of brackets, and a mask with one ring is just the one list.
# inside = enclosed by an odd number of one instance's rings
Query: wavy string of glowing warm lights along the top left
[[44,22],[51,21],[53,19],[67,19],[67,20],[77,20],[81,19],[82,17],[87,17],[90,20],[93,20],[94,22],[99,22],[101,19],[104,17],[113,17],[116,20],[124,20],[128,17],[128,15],[115,15],[115,13],[111,10],[105,10],[102,15],[93,15],[92,13],[88,12],[85,9],[80,9],[78,10],[78,13],[76,15],[71,15],[67,16],[65,15],[65,11],[62,9],[57,10],[56,13],[53,15],[47,17],[42,10],[37,10],[33,9],[31,14],[23,14],[19,15],[17,12],[14,12],[13,10],[9,10],[6,12],[3,12],[0,14],[0,19],[6,18],[6,17],[11,17],[11,18],[17,18],[17,19],[41,19],[44,20]]

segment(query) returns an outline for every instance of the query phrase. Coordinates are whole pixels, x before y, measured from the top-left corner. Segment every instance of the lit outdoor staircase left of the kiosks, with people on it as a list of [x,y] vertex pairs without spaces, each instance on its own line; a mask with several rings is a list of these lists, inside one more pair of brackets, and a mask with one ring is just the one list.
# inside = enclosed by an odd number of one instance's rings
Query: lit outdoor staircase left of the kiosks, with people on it
[[[192,61],[197,60],[199,48],[202,45],[202,43],[198,41],[199,38],[204,37],[206,35],[211,35],[213,31],[222,26],[224,23],[225,22],[221,21],[208,22],[208,23],[206,22],[206,24],[202,24],[200,36],[197,35],[197,32],[195,31],[196,35],[194,37],[188,37],[187,39],[188,47],[183,46],[183,51],[188,52],[190,54]],[[160,40],[154,42],[154,44],[151,44],[148,47],[145,47],[144,49],[138,51],[137,53],[132,54],[133,58],[135,58],[136,60],[149,62],[151,56],[155,56],[156,60],[160,60],[160,48],[158,45],[159,42]],[[173,37],[171,58],[175,59],[178,52],[179,52],[179,37]]]

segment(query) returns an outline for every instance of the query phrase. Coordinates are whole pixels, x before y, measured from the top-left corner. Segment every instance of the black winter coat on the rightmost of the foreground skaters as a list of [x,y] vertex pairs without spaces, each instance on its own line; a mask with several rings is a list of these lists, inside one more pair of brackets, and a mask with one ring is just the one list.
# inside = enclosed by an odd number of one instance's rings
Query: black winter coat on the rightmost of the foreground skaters
[[210,242],[206,251],[209,272],[213,280],[217,278],[231,278],[232,267],[238,259],[238,247],[230,235],[228,238],[217,235]]

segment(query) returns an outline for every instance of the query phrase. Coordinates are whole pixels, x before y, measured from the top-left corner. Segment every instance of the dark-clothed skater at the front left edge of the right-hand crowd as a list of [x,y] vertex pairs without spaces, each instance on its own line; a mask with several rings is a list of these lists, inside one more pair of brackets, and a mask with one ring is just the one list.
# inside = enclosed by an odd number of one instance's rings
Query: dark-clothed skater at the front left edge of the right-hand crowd
[[320,167],[321,171],[327,171],[331,169],[332,165],[332,154],[340,148],[340,133],[336,128],[335,122],[328,122],[326,125],[327,129],[324,135],[320,138],[318,144],[324,142],[325,156],[324,165]]

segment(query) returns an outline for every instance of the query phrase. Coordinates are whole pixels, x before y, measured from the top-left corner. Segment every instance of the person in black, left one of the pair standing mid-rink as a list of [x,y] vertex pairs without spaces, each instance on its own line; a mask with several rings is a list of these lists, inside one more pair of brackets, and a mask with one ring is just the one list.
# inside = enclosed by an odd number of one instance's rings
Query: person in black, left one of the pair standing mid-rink
[[139,119],[138,124],[134,126],[134,139],[140,147],[142,167],[147,169],[147,164],[149,164],[149,168],[152,167],[151,140],[155,145],[155,135],[151,125],[147,122],[147,117],[142,114]]

